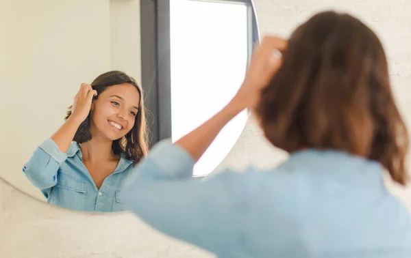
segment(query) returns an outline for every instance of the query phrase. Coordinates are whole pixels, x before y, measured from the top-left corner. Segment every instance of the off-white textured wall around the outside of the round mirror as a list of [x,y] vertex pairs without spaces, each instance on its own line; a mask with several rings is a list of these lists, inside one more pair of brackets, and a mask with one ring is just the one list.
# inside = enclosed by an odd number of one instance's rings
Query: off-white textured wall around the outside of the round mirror
[[[73,0],[71,0],[73,1]],[[83,0],[84,1],[84,0]],[[101,0],[99,0],[101,1]],[[288,35],[313,12],[348,10],[375,28],[390,59],[401,111],[411,126],[411,5],[400,0],[255,0],[262,34]],[[220,167],[247,164],[270,167],[286,158],[262,138],[253,120]],[[394,186],[410,207],[410,190]],[[170,240],[129,214],[95,216],[68,212],[31,199],[0,182],[0,254],[2,257],[210,257],[197,248]]]

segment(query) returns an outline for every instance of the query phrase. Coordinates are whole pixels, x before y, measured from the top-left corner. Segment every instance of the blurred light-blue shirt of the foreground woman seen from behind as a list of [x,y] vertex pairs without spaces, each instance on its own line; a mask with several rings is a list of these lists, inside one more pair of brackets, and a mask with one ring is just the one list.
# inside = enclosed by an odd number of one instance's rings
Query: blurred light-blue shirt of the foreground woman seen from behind
[[410,214],[377,162],[308,149],[275,169],[227,169],[201,182],[190,178],[193,165],[182,147],[158,143],[124,181],[126,205],[218,257],[411,257]]

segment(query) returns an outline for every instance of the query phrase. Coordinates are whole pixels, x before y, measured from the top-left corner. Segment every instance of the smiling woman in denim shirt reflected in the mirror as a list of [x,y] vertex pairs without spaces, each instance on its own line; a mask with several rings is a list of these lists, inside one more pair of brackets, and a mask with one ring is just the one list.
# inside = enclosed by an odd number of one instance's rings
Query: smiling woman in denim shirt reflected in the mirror
[[48,203],[84,212],[124,210],[120,184],[147,154],[142,89],[119,71],[82,83],[66,122],[23,167]]

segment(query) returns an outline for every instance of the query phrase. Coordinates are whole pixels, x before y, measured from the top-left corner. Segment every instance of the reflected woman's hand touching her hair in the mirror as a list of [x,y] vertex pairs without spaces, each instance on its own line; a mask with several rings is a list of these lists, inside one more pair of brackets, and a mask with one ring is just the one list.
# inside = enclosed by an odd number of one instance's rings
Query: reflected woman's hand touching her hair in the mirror
[[82,123],[90,113],[92,97],[97,96],[97,91],[88,83],[82,83],[71,109],[71,117]]

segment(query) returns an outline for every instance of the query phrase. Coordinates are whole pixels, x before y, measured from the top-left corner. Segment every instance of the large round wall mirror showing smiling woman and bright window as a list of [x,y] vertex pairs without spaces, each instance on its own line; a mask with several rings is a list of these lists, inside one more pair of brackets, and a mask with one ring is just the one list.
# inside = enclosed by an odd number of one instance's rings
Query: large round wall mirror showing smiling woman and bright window
[[[0,177],[79,212],[125,211],[119,186],[145,147],[176,141],[227,104],[258,42],[251,0],[22,4],[1,12]],[[223,129],[194,177],[216,169],[247,117]]]

